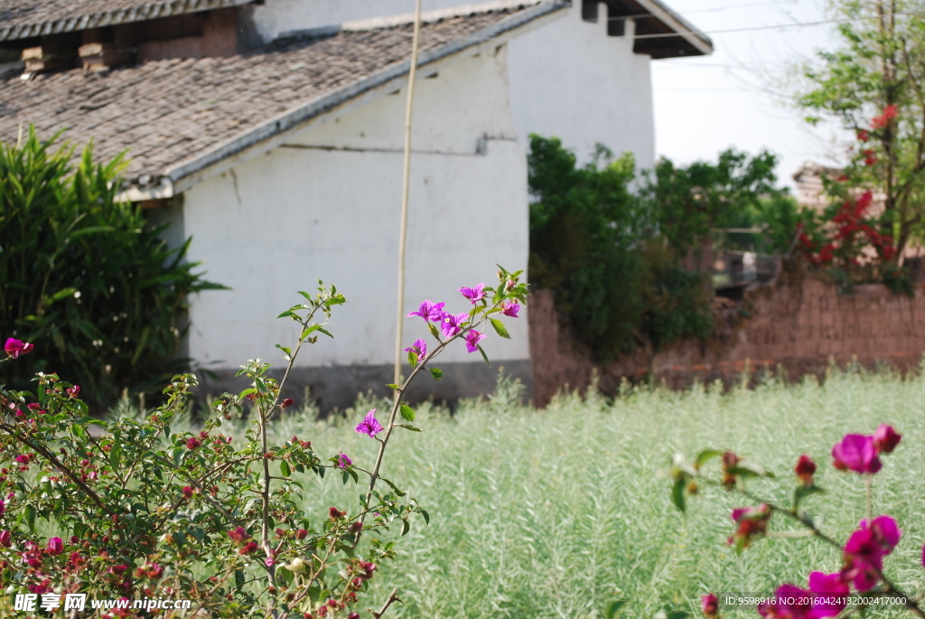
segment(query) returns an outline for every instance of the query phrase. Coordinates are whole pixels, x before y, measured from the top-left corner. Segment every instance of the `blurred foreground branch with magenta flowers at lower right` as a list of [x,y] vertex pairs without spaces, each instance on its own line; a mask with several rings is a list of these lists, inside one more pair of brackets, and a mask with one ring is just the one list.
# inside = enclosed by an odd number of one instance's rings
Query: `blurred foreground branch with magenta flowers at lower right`
[[[891,426],[881,425],[872,435],[848,434],[833,446],[833,467],[855,473],[864,481],[867,494],[867,516],[857,529],[843,543],[820,529],[806,511],[801,511],[803,501],[823,492],[815,483],[817,464],[807,454],[799,457],[794,467],[796,487],[793,502],[789,506],[762,500],[747,488],[751,479],[774,477],[759,464],[746,461],[734,452],[704,450],[697,454],[692,464],[685,463],[682,456],[675,456],[672,464],[672,501],[682,512],[691,495],[697,494],[701,486],[717,487],[757,503],[734,509],[732,513],[733,533],[728,543],[735,551],[744,551],[755,541],[771,537],[815,537],[838,549],[842,553],[842,568],[833,574],[820,571],[808,575],[807,586],[783,583],[775,589],[774,595],[761,600],[758,612],[771,619],[823,619],[842,613],[849,606],[849,600],[860,600],[857,611],[863,611],[878,598],[899,601],[905,608],[919,617],[923,610],[919,599],[907,596],[896,588],[884,572],[883,559],[894,551],[902,531],[889,515],[873,516],[872,483],[874,476],[882,469],[882,455],[891,453],[902,437]],[[704,474],[703,467],[710,460],[719,458],[721,477]],[[772,530],[771,523],[789,521],[799,528]],[[925,549],[923,549],[925,566]],[[851,589],[863,593],[863,598],[851,598]],[[716,594],[703,596],[701,610],[708,617],[719,615],[721,603]]]

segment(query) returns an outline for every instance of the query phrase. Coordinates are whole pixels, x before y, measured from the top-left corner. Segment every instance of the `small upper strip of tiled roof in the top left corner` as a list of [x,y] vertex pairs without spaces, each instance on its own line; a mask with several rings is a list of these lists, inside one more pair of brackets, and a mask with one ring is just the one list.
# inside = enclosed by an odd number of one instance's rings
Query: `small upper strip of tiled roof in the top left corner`
[[251,0],[0,0],[0,41],[115,26]]

